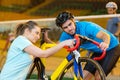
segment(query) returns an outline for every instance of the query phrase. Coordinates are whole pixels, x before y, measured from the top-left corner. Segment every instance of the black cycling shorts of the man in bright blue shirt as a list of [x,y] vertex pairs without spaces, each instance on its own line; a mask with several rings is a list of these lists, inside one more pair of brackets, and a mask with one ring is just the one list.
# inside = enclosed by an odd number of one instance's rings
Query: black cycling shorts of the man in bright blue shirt
[[[119,56],[120,56],[120,45],[107,51],[106,52],[106,56],[104,59],[97,61],[103,68],[106,76],[111,72],[111,70],[115,67],[115,64],[117,63]],[[93,55],[91,56],[91,58],[100,56],[100,53],[93,53]],[[93,75],[96,72],[96,68],[90,64],[87,63],[84,70],[89,71],[90,73],[92,73]]]

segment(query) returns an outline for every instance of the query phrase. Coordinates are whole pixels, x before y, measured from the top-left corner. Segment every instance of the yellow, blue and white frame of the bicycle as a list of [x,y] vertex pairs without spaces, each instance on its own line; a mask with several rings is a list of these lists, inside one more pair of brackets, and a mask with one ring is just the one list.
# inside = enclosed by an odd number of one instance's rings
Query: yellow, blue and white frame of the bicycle
[[[77,43],[77,44],[79,44],[79,43]],[[53,47],[53,46],[55,46],[56,44],[54,43],[54,44],[51,44],[51,43],[43,43],[42,44],[42,46],[41,46],[41,49],[43,49],[43,50],[45,50],[45,49],[47,49],[47,48],[50,48],[50,47]],[[78,46],[76,46],[76,48],[77,48]],[[76,52],[76,50],[75,51],[73,51],[73,53],[74,53],[74,55],[76,55],[76,60],[74,60],[74,63],[76,63],[76,61],[78,60],[78,58],[80,57],[80,54],[79,54],[79,52],[77,53],[77,54],[75,54],[75,52]],[[57,78],[58,78],[58,76],[60,75],[60,73],[63,71],[63,69],[64,69],[64,67],[71,61],[73,59],[73,57],[72,57],[72,55],[71,54],[68,54],[68,56],[62,61],[62,63],[58,66],[58,68],[53,72],[53,74],[51,75],[51,80],[56,80]],[[74,65],[74,67],[76,68],[78,65]],[[81,65],[79,65],[80,67],[81,67]],[[75,69],[74,68],[74,69]],[[82,70],[82,69],[81,69]],[[81,73],[81,77],[83,78],[83,74],[82,74],[82,71],[81,70],[79,70],[80,71],[80,73]],[[78,74],[78,72],[77,72],[77,70],[74,70],[74,73],[75,73],[75,75],[74,75],[74,80],[77,80],[77,74]]]

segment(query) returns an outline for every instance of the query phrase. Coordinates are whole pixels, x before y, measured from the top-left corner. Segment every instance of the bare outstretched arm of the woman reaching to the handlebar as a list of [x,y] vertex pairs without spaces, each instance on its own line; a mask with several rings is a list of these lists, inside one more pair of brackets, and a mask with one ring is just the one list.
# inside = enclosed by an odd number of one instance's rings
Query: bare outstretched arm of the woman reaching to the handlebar
[[30,45],[30,46],[26,47],[24,49],[24,51],[35,57],[49,57],[49,56],[53,55],[54,53],[56,53],[57,51],[59,51],[64,46],[73,46],[73,44],[74,44],[74,40],[70,39],[70,40],[65,40],[65,41],[57,44],[56,46],[46,49],[46,50],[42,50],[35,45]]

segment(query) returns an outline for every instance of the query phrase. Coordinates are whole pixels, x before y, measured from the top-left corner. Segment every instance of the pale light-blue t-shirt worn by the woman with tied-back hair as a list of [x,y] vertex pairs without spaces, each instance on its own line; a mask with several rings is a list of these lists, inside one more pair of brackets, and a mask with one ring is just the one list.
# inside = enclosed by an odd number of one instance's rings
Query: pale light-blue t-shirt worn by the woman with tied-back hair
[[11,44],[6,62],[0,73],[0,80],[25,80],[33,56],[23,51],[32,43],[24,36],[18,36]]

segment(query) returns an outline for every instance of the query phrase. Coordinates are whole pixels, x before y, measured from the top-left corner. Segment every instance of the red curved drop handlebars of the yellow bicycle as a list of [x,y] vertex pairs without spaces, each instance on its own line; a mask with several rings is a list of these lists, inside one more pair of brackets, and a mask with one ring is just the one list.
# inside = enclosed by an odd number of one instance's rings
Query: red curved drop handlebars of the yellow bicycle
[[[80,45],[80,38],[84,39],[84,40],[87,40],[87,41],[90,41],[91,43],[97,45],[98,47],[100,46],[100,43],[98,43],[98,42],[96,42],[96,41],[94,41],[94,40],[92,40],[92,39],[90,39],[88,37],[85,37],[85,36],[75,35],[74,38],[76,39],[76,45],[73,48],[65,47],[67,49],[67,51],[76,50]],[[99,60],[103,59],[105,57],[105,55],[106,55],[106,50],[103,50],[101,56],[94,57],[93,59],[99,61]]]

